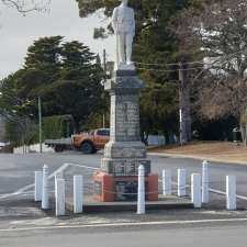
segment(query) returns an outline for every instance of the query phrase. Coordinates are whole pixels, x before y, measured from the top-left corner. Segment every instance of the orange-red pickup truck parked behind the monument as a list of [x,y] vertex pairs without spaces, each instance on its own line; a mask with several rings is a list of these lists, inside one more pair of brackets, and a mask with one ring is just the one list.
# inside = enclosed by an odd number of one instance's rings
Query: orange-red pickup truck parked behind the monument
[[71,136],[71,144],[83,154],[94,154],[104,148],[110,139],[109,128],[99,128],[89,133],[81,133]]

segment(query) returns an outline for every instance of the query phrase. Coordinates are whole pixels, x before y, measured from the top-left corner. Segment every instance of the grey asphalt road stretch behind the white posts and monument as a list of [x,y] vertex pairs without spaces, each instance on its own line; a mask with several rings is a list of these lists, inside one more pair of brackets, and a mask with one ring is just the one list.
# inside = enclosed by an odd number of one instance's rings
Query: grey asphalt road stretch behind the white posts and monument
[[[53,172],[65,162],[80,164],[83,166],[100,167],[101,154],[81,155],[80,153],[63,154],[27,154],[27,155],[4,155],[0,154],[0,194],[12,193],[27,184],[33,183],[34,171],[42,170],[44,164],[49,166]],[[194,159],[161,158],[149,156],[151,169],[161,175],[164,168],[170,168],[176,181],[177,168],[187,168],[188,183],[190,175],[201,172],[201,161]],[[69,169],[68,169],[69,170]],[[76,172],[76,171],[75,171]],[[81,173],[87,171],[81,170]],[[72,177],[74,171],[70,169]],[[237,193],[247,197],[247,166],[231,164],[210,164],[211,188],[225,191],[225,177],[235,175],[237,177]]]

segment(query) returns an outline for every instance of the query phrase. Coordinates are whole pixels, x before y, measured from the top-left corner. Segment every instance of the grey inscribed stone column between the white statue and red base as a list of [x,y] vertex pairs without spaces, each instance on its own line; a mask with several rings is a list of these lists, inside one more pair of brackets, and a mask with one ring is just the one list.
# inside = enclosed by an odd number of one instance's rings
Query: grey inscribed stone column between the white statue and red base
[[101,168],[113,176],[137,176],[144,166],[150,173],[145,145],[139,133],[139,91],[143,81],[134,70],[116,70],[105,83],[111,96],[111,134],[104,148]]

